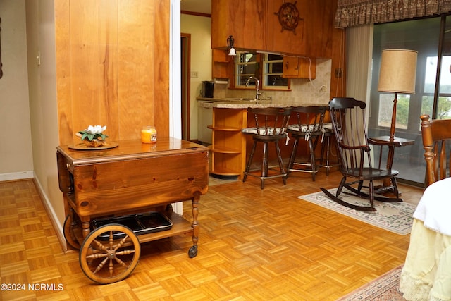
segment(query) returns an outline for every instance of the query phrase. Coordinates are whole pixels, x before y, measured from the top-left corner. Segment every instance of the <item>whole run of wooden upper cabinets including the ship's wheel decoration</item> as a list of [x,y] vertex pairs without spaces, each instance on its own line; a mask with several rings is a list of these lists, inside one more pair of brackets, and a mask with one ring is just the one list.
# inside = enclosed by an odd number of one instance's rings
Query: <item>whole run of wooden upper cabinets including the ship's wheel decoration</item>
[[211,47],[330,58],[336,0],[212,0]]

